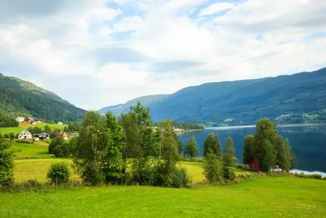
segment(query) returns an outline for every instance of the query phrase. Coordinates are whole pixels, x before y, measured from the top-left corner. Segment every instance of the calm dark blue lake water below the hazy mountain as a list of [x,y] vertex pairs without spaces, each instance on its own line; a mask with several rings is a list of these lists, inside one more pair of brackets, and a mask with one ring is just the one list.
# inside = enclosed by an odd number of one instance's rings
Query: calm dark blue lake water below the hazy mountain
[[[303,171],[326,172],[326,124],[324,125],[284,125],[277,128],[279,134],[290,140],[292,150],[299,161],[297,169]],[[203,155],[203,143],[210,133],[218,133],[223,146],[226,138],[231,136],[234,141],[235,156],[242,161],[242,144],[246,135],[254,135],[255,126],[211,128],[203,131],[188,132],[179,135],[186,143],[195,135],[199,144],[200,156]]]

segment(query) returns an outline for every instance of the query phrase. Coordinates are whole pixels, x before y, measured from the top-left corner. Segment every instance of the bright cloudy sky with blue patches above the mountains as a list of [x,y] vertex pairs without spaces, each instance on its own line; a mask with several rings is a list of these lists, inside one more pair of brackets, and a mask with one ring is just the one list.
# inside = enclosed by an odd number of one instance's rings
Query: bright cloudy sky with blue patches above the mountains
[[87,110],[325,58],[325,0],[0,1],[0,72]]

